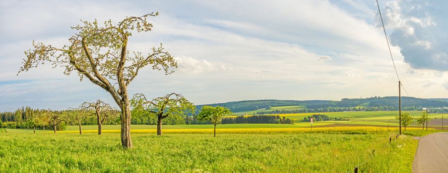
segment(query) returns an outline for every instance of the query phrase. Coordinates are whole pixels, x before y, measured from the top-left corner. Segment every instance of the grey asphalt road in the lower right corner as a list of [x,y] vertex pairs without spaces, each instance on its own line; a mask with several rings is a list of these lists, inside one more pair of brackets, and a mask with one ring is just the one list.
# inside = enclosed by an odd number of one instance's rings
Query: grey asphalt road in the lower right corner
[[420,137],[413,173],[448,173],[448,132]]

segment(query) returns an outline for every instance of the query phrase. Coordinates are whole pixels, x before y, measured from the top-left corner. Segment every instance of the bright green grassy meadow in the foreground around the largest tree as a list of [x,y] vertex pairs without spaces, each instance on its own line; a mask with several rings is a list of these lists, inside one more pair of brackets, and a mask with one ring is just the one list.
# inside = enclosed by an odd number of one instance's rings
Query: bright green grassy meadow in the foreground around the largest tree
[[[165,126],[175,127],[201,128]],[[362,172],[411,172],[418,142],[412,135],[428,132],[434,130],[408,130],[391,144],[395,131],[134,133],[134,147],[124,150],[119,133],[8,129],[0,133],[0,172],[345,173],[365,161]]]

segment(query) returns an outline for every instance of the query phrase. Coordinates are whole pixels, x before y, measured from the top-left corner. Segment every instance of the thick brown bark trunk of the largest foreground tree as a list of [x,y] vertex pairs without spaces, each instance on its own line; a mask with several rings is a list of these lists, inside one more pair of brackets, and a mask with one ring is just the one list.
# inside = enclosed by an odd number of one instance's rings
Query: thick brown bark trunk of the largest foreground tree
[[122,115],[121,115],[121,140],[122,146],[124,148],[132,148],[132,141],[130,138],[130,105],[129,100],[126,97],[121,105]]

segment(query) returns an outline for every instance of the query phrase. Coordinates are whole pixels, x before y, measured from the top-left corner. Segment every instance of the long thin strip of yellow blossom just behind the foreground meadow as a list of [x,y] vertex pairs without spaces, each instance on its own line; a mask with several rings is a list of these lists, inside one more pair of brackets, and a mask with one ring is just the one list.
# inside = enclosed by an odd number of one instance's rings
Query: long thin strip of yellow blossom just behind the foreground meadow
[[[420,130],[420,128],[406,128],[406,130]],[[434,130],[434,129],[428,129]],[[156,133],[155,129],[130,130],[131,133]],[[380,131],[398,131],[398,128],[384,127],[324,127],[324,128],[251,128],[251,129],[216,129],[218,133],[302,133],[302,132],[380,132]],[[62,131],[64,132],[64,131]],[[79,132],[71,130],[65,132]],[[96,133],[97,130],[83,130],[86,133]],[[103,130],[103,133],[119,133],[120,130]],[[213,129],[166,129],[163,133],[213,133]]]

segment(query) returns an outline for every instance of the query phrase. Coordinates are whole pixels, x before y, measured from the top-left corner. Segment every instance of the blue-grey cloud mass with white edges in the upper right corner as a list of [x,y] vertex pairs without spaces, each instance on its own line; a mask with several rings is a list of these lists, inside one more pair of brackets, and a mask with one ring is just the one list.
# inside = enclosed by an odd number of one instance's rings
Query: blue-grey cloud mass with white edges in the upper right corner
[[400,47],[412,68],[448,71],[448,13],[440,8],[447,5],[448,1],[385,3],[384,23],[391,30],[390,43]]

